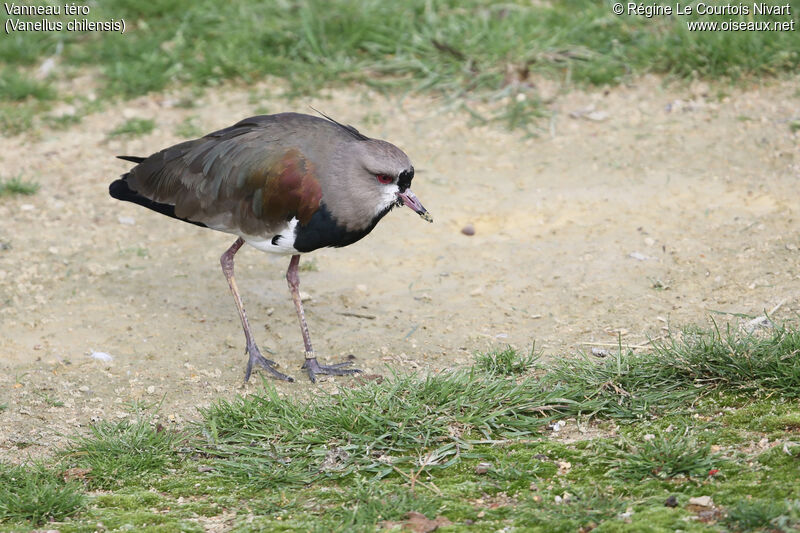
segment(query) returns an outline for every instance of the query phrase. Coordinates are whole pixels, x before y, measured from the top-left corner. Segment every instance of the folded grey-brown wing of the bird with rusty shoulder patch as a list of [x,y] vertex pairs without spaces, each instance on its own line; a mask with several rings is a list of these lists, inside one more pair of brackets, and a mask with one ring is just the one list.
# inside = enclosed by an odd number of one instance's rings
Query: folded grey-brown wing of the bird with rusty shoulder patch
[[258,235],[297,217],[307,223],[322,190],[297,147],[245,120],[162,150],[134,167],[129,187],[175,215],[223,231]]

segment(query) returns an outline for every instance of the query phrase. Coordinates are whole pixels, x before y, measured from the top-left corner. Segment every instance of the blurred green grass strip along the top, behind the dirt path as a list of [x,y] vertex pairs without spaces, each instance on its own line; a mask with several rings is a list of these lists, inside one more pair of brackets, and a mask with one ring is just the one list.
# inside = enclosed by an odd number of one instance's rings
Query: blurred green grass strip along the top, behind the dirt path
[[[796,16],[800,0],[789,3]],[[110,0],[92,6],[89,18],[124,19],[126,32],[17,32],[0,41],[0,63],[10,73],[2,76],[10,81],[0,101],[52,98],[47,82],[26,72],[62,46],[59,64],[97,70],[106,97],[271,75],[294,94],[349,83],[436,91],[470,106],[479,120],[510,127],[542,114],[538,76],[605,85],[648,72],[760,79],[800,66],[795,32],[686,27],[690,20],[785,16],[615,16],[609,2],[594,0]],[[474,99],[489,103],[489,114],[479,115]]]

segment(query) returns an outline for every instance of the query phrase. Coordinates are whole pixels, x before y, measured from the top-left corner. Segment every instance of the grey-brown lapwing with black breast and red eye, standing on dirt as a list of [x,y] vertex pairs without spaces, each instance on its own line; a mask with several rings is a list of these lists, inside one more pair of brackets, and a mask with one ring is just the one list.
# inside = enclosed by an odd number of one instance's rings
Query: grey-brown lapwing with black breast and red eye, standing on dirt
[[300,298],[300,255],[359,241],[395,207],[433,222],[411,191],[414,166],[405,152],[320,115],[253,116],[148,157],[117,156],[135,166],[109,185],[113,198],[236,236],[220,265],[244,330],[245,382],[255,367],[279,380],[294,378],[254,340],[234,277],[243,245],[290,256],[286,280],[303,336],[301,369],[315,383],[318,375],[360,370],[317,360]]

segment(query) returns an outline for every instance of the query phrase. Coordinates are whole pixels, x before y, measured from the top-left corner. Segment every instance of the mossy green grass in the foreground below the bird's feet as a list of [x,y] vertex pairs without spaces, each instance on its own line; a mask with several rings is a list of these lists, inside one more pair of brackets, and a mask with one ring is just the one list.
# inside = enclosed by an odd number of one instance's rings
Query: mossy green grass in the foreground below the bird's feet
[[[791,531],[798,339],[689,329],[650,353],[555,362],[507,348],[303,400],[265,380],[183,434],[135,405],[138,421],[101,422],[26,470],[53,476],[46,501],[82,499],[0,514],[0,531],[49,517],[61,531],[201,531],[224,512],[235,531],[375,531],[409,513],[452,522],[442,531]],[[71,469],[76,481],[53,474]],[[5,486],[0,506],[31,490]],[[713,523],[688,506],[702,495]]]

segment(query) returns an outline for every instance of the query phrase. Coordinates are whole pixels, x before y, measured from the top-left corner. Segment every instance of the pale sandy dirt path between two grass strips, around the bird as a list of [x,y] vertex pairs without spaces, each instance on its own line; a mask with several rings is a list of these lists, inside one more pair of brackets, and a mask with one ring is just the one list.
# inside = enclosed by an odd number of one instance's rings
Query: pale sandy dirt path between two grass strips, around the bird
[[[353,89],[288,102],[239,87],[193,109],[152,96],[67,131],[2,139],[2,175],[42,187],[0,199],[0,459],[48,453],[93,420],[131,416],[132,405],[163,398],[157,416],[183,425],[198,407],[260,388],[258,375],[242,385],[243,336],[219,268],[232,237],[107,193],[129,166],[115,155],[182,140],[175,130],[189,116],[211,131],[263,106],[311,104],[410,154],[413,189],[436,222],[393,212],[361,242],[305,257],[301,288],[322,359],[437,372],[505,344],[535,340],[560,357],[732,316],[718,312],[782,303],[776,318],[796,317],[800,135],[789,123],[799,82],[727,96],[653,78],[573,91],[528,139],[469,127],[468,114],[432,98]],[[134,116],[156,130],[108,137]],[[298,378],[275,386],[304,395],[315,386],[298,368],[286,267],[254,249],[237,255],[257,341]]]

